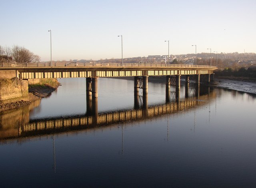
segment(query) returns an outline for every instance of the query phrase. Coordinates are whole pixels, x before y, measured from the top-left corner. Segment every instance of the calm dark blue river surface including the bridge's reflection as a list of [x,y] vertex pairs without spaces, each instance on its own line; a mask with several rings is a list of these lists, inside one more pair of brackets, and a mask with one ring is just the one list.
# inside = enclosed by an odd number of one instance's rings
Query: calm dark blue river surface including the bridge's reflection
[[134,109],[133,80],[100,78],[88,116],[85,79],[59,81],[0,116],[1,187],[256,186],[255,96],[190,86],[166,102],[149,82],[148,107],[140,90]]

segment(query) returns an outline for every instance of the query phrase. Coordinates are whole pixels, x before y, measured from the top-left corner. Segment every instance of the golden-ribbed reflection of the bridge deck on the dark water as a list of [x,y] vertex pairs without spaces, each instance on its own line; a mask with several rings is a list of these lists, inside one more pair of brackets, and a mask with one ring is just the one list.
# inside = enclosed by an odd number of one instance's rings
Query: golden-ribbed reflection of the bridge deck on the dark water
[[[198,89],[192,89],[194,94],[190,97],[177,98],[166,104],[160,104],[155,106],[145,106],[143,108],[134,108],[130,110],[119,110],[106,113],[91,113],[82,114],[70,117],[57,117],[51,119],[38,119],[30,120],[17,127],[16,133],[13,135],[2,136],[2,139],[19,138],[26,136],[38,136],[42,134],[54,134],[60,132],[68,132],[73,130],[83,130],[97,127],[106,127],[120,122],[133,122],[150,119],[156,116],[162,116],[165,114],[174,114],[196,108],[198,106],[208,104],[209,99],[215,98],[215,92],[211,92],[210,88],[204,88],[204,90],[198,91]],[[198,94],[198,95],[195,95]],[[143,99],[144,101],[145,99]],[[94,101],[95,102],[95,101]],[[134,106],[136,107],[136,99],[134,99]]]

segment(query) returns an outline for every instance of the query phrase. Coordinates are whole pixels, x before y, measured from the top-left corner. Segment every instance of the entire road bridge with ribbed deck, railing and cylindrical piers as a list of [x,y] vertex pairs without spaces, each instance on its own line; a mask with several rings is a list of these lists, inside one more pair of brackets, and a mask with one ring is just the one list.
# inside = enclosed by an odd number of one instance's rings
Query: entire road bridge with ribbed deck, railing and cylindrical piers
[[[86,78],[87,96],[98,97],[98,78],[100,77],[134,77],[134,95],[143,90],[148,93],[149,76],[166,76],[166,90],[170,86],[180,88],[180,76],[185,75],[186,84],[210,82],[216,66],[159,63],[34,63],[2,64],[0,70],[16,70],[20,79],[34,78]],[[167,93],[167,92],[166,92]]]

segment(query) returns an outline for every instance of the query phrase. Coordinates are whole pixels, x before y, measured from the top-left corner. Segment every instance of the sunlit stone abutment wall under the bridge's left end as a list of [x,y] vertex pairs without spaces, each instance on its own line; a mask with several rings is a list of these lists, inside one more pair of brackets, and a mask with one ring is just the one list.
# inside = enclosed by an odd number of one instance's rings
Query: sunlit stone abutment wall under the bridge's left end
[[28,80],[12,79],[8,86],[0,86],[0,100],[2,102],[28,96]]

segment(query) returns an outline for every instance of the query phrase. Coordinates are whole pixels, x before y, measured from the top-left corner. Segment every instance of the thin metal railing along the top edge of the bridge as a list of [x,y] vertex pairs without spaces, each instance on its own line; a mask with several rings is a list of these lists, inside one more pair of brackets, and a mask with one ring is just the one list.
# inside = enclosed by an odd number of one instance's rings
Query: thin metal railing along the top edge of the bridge
[[100,63],[100,62],[38,62],[38,63],[0,63],[0,67],[197,67],[197,68],[216,68],[210,65],[191,65],[191,64],[162,64],[162,63]]

